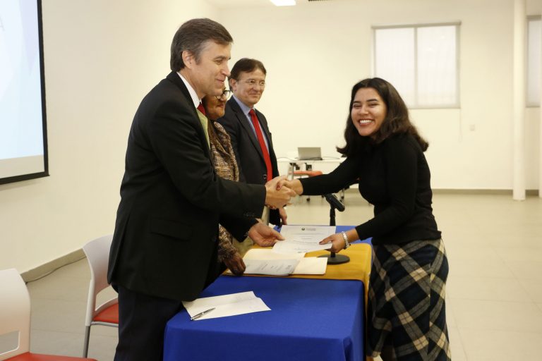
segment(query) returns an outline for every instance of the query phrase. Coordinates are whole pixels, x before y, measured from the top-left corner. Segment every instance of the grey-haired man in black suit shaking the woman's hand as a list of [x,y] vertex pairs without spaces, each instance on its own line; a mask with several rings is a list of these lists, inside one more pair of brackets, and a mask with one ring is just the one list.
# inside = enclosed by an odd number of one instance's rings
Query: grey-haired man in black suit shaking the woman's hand
[[293,193],[277,190],[278,179],[263,186],[217,177],[206,118],[196,111],[205,95],[222,94],[231,42],[215,21],[181,25],[171,73],[133,118],[107,275],[119,291],[115,360],[162,360],[167,321],[216,276],[219,223],[260,245],[280,238],[255,217]]

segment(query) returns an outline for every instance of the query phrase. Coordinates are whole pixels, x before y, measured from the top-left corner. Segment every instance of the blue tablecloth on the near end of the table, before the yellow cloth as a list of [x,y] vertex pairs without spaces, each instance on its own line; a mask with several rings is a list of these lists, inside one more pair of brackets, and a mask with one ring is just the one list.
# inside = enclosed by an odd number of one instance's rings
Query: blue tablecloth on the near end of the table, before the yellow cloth
[[271,311],[169,320],[164,360],[361,361],[363,283],[221,276],[200,297],[253,290]]

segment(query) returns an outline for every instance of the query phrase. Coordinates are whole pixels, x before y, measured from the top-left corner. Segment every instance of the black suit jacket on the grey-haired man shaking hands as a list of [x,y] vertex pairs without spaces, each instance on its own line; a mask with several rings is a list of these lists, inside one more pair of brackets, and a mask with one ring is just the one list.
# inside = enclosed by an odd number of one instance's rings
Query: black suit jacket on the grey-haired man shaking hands
[[264,202],[262,185],[215,175],[190,94],[171,72],[133,118],[108,281],[194,300],[215,276],[218,224],[243,239]]

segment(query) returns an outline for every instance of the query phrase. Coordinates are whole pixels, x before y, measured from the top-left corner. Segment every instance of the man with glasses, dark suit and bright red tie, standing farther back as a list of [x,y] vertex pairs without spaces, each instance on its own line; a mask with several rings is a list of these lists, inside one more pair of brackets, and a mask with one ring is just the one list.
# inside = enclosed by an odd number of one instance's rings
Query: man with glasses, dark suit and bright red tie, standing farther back
[[[265,90],[266,75],[261,61],[239,59],[229,76],[229,87],[234,95],[226,103],[226,113],[218,120],[231,137],[241,182],[265,184],[279,176],[267,119],[254,108]],[[286,211],[279,207],[270,209],[268,219],[263,220],[280,225],[286,224],[286,219]]]

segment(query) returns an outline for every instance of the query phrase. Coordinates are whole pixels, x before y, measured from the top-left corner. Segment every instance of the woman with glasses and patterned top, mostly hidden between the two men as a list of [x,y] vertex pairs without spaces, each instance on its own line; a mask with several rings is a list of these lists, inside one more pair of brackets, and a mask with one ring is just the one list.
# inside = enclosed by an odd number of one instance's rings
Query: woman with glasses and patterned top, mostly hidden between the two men
[[[231,148],[231,141],[228,133],[222,126],[216,122],[218,118],[224,116],[226,101],[231,94],[230,90],[224,87],[222,95],[218,97],[204,97],[202,99],[205,115],[209,119],[207,130],[209,133],[209,142],[212,153],[212,160],[215,163],[215,171],[220,178],[231,181],[239,181],[239,168],[235,159],[234,150]],[[219,248],[218,260],[224,262],[226,267],[234,274],[243,274],[245,263],[239,250],[236,249],[233,236],[226,231],[226,228],[219,226]]]

